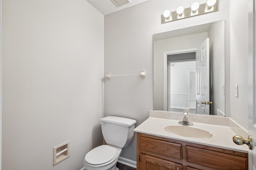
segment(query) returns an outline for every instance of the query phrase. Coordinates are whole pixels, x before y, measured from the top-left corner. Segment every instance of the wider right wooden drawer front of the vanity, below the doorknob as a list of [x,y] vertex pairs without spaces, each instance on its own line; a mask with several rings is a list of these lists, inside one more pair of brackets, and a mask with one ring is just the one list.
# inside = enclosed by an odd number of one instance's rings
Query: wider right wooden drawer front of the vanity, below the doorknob
[[212,150],[186,146],[186,160],[216,169],[247,170],[248,159]]

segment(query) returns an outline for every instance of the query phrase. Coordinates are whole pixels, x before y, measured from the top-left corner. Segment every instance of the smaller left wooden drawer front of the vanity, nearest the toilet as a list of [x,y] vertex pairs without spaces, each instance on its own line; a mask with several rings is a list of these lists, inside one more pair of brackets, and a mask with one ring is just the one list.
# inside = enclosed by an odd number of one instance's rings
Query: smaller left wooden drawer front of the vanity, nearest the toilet
[[182,159],[182,145],[157,139],[140,137],[140,149],[172,158]]

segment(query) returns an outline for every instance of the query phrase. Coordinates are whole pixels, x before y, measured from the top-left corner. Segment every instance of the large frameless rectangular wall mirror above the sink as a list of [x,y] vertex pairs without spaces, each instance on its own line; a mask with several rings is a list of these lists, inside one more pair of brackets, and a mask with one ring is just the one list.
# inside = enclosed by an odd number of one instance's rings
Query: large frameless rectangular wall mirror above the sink
[[153,35],[154,110],[225,116],[225,21]]

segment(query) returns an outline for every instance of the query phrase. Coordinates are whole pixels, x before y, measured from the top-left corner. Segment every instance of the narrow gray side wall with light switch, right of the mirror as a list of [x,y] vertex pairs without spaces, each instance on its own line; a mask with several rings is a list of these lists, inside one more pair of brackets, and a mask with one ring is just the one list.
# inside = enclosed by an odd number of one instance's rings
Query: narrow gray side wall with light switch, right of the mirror
[[[230,116],[248,129],[248,2],[230,1]],[[240,14],[237,11],[241,10]],[[234,85],[238,84],[238,98]]]

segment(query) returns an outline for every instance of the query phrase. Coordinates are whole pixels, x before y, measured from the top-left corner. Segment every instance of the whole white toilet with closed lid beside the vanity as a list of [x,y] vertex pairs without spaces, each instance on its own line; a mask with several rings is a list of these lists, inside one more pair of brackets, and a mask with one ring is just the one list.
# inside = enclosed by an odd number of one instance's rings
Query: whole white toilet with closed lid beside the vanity
[[116,162],[122,148],[132,142],[136,120],[107,116],[100,119],[103,137],[107,145],[96,147],[84,157],[86,170],[119,170]]

